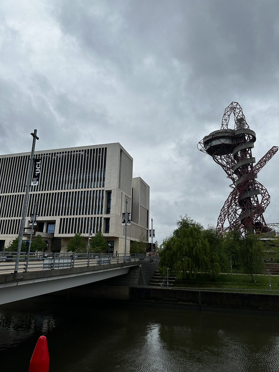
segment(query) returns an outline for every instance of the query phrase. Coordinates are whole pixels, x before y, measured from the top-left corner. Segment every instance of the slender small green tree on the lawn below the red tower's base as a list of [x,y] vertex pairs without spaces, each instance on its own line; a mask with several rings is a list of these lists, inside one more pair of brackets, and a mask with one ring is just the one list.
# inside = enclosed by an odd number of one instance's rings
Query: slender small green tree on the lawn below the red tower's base
[[255,234],[249,234],[240,239],[240,264],[244,274],[251,275],[252,282],[256,283],[257,274],[264,269],[263,244]]

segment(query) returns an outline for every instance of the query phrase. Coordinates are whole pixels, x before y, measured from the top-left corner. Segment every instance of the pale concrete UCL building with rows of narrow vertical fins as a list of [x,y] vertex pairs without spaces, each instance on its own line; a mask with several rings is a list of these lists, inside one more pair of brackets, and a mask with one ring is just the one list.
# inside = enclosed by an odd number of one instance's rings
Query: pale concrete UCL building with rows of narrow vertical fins
[[[20,232],[30,155],[0,155],[0,250]],[[33,234],[40,234],[49,250],[66,251],[76,232],[87,241],[92,220],[93,237],[102,231],[110,253],[124,253],[126,204],[131,213],[126,252],[131,241],[148,241],[149,186],[132,177],[133,159],[119,143],[35,151],[34,159],[41,160],[41,173],[30,188],[23,240],[30,240],[37,203]]]

